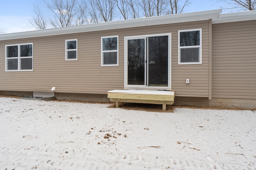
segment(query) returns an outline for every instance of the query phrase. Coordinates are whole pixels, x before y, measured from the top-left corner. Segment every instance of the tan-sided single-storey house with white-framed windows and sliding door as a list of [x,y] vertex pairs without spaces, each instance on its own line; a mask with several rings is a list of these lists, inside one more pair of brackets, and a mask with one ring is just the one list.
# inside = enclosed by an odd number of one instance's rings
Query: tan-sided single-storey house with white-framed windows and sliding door
[[221,12],[0,35],[0,94],[171,90],[176,105],[256,108],[256,11]]

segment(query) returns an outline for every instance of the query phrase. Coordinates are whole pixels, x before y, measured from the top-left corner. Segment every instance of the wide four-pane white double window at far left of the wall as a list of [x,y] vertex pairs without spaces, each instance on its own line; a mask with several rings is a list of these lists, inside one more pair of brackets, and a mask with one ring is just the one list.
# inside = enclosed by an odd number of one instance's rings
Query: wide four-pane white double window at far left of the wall
[[5,46],[6,71],[33,70],[33,43]]

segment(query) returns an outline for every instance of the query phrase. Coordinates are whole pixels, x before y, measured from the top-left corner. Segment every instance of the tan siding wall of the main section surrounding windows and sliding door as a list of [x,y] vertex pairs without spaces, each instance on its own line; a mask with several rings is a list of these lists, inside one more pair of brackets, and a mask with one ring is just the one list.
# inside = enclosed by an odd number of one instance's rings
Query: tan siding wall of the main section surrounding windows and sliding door
[[[202,28],[202,64],[178,65],[178,30]],[[195,21],[0,41],[0,90],[106,94],[124,89],[124,37],[172,33],[172,91],[209,96],[209,21]],[[118,35],[119,66],[101,66],[101,37]],[[65,40],[78,39],[78,60],[65,61]],[[5,45],[33,43],[33,71],[5,71]],[[186,84],[190,78],[190,84]]]

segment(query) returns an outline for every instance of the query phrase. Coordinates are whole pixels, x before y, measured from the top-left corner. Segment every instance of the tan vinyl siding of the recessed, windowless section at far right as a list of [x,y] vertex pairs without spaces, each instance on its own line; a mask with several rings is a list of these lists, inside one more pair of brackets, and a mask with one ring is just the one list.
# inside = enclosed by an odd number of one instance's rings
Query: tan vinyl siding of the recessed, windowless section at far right
[[212,97],[256,99],[256,20],[212,26]]

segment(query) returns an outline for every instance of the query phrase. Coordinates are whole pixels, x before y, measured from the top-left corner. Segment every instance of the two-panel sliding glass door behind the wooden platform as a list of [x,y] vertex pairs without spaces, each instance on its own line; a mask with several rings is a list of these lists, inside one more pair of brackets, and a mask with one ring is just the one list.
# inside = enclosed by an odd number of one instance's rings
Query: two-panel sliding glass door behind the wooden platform
[[170,87],[170,34],[126,37],[126,86]]

